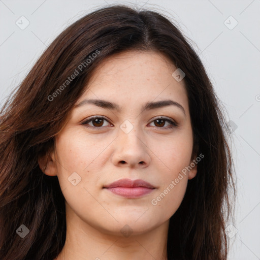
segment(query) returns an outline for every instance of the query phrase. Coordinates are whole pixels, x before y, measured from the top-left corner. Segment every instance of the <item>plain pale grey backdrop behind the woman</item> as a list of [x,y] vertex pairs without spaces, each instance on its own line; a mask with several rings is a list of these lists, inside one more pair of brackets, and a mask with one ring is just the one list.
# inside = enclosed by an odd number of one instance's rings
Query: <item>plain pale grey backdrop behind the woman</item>
[[238,198],[236,222],[226,223],[229,259],[260,259],[260,0],[0,0],[0,106],[64,28],[113,3],[165,13],[191,39],[233,129]]

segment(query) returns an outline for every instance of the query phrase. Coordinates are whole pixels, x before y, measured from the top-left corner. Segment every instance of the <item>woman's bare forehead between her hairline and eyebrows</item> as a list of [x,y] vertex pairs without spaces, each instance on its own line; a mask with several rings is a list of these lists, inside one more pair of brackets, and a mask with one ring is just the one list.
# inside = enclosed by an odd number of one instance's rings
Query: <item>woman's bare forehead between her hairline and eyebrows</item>
[[171,99],[187,109],[184,81],[176,81],[174,64],[158,52],[125,51],[111,55],[95,69],[87,89],[77,104],[86,98],[109,100],[120,107]]

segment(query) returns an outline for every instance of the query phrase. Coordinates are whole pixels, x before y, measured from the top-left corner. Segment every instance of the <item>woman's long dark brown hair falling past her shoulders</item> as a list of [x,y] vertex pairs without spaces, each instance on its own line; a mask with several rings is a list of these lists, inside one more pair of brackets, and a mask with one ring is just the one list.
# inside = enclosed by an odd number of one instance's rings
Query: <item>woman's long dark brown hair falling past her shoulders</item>
[[[193,152],[205,156],[170,219],[168,259],[227,258],[225,221],[232,213],[230,191],[235,194],[236,189],[230,132],[220,101],[196,51],[170,18],[112,5],[61,32],[1,110],[2,260],[49,260],[61,251],[66,239],[64,197],[57,176],[43,174],[38,157],[53,149],[55,136],[95,68],[125,50],[164,53],[185,73]],[[68,84],[75,70],[78,75]],[[24,238],[17,233],[21,224],[29,230]]]

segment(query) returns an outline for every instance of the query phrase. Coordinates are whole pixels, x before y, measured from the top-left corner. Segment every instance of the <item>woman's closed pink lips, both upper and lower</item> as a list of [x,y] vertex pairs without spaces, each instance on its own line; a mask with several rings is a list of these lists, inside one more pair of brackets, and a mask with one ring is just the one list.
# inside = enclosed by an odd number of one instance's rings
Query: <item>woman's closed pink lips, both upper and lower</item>
[[104,186],[104,188],[107,188],[109,191],[129,199],[139,198],[155,189],[155,187],[153,187],[149,182],[140,179],[121,179]]

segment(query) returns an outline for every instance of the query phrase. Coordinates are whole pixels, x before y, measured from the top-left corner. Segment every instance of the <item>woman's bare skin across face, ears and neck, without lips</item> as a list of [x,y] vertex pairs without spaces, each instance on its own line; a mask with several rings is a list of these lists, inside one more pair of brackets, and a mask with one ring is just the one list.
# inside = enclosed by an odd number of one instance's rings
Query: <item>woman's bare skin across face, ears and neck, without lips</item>
[[[122,110],[93,104],[75,107],[55,138],[53,152],[39,158],[46,175],[57,175],[66,200],[67,237],[57,260],[167,259],[169,219],[182,202],[188,179],[197,174],[196,165],[152,205],[151,200],[194,159],[188,98],[184,81],[172,76],[175,70],[161,53],[126,51],[110,56],[95,70],[76,104],[102,99]],[[162,100],[179,103],[185,114],[177,106],[141,110],[147,102]],[[107,121],[92,120],[88,128],[81,123],[90,116]],[[178,126],[156,121],[160,116]],[[125,120],[130,122],[127,127],[133,126],[127,134],[120,128]],[[73,172],[81,177],[75,186],[68,181]],[[155,189],[129,199],[103,188],[122,178],[143,179]],[[125,225],[132,231],[129,236],[121,232]]]

